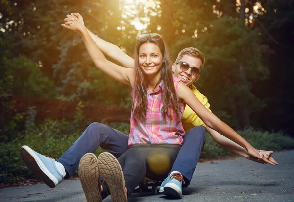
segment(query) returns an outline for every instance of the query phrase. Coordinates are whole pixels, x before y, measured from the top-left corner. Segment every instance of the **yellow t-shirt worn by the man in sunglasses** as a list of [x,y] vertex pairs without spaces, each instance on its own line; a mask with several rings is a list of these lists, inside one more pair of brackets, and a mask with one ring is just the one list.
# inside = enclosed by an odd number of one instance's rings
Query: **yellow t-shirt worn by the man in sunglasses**
[[[200,102],[211,112],[211,110],[209,109],[210,104],[208,103],[207,98],[203,94],[201,94],[194,85],[191,85],[190,89],[194,92]],[[205,123],[188,105],[186,105],[185,111],[182,116],[182,124],[185,132],[189,131],[194,126],[203,126],[204,128],[206,127]]]

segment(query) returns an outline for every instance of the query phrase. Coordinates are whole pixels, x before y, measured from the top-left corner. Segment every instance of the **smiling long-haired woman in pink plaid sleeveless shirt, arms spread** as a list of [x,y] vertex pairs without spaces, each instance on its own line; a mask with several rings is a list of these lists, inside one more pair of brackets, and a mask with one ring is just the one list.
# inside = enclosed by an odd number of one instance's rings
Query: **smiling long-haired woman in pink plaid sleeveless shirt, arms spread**
[[[167,154],[168,161],[163,162],[161,166],[169,163],[172,165],[184,135],[180,122],[184,109],[182,101],[188,104],[207,126],[242,145],[249,154],[262,157],[240,135],[209,112],[189,87],[178,78],[172,77],[172,63],[160,35],[145,34],[139,37],[135,48],[135,68],[127,69],[111,63],[104,57],[79,20],[69,26],[62,26],[76,31],[83,37],[88,53],[98,68],[133,89],[128,142],[131,149],[118,159],[123,171],[116,158],[110,154],[102,153],[99,161],[91,155],[85,155],[81,159],[79,174],[89,201],[95,197],[100,199],[97,191],[89,191],[89,187],[93,187],[95,183],[86,177],[86,173],[91,172],[87,168],[93,163],[94,167],[99,164],[99,171],[106,180],[114,201],[127,201],[127,195],[140,184],[144,176],[154,178],[156,173],[151,169],[149,158],[155,149],[164,150]],[[167,169],[166,172],[168,171]]]

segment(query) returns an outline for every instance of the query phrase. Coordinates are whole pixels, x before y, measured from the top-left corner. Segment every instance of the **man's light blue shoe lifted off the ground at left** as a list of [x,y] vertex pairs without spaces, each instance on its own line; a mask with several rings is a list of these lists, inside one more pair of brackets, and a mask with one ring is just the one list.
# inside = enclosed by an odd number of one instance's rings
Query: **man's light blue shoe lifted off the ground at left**
[[20,153],[25,165],[50,188],[54,188],[64,179],[53,158],[41,155],[28,146],[22,146]]

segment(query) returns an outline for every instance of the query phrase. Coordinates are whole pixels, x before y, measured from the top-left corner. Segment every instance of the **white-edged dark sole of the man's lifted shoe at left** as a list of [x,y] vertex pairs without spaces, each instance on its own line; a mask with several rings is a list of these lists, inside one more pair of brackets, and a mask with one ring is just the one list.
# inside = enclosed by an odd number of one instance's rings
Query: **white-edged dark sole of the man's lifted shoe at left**
[[41,180],[45,182],[50,188],[54,188],[58,185],[57,178],[46,168],[40,158],[35,152],[28,146],[22,146],[20,154],[25,162],[25,165],[35,173]]

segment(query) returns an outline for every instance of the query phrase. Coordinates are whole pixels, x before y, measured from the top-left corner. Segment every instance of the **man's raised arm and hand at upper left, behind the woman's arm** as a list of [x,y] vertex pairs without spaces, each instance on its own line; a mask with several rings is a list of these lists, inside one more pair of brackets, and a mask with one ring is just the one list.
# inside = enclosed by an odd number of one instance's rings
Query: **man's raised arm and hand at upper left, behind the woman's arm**
[[[84,23],[83,17],[79,13],[71,13],[71,15],[67,15],[64,19],[65,25],[70,25],[73,21],[79,19]],[[119,62],[123,65],[123,67],[126,68],[134,68],[134,59],[128,56],[123,52],[121,48],[118,46],[109,43],[101,38],[99,38],[97,35],[93,34],[90,30],[88,30],[89,35],[95,42],[95,44],[99,47],[99,49],[107,56],[112,58],[113,60]]]

